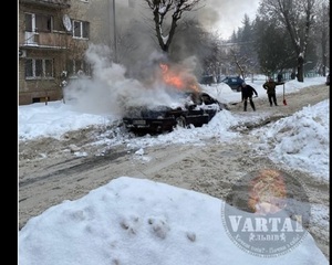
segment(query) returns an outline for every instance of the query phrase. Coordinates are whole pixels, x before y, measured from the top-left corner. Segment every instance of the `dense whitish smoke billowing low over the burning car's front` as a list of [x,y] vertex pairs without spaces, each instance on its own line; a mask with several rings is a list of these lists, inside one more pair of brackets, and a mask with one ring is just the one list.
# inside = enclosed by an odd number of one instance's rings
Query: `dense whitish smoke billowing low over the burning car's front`
[[[72,81],[65,87],[66,102],[73,103],[75,109],[93,114],[112,114],[122,117],[129,108],[135,106],[169,106],[179,104],[176,88],[167,85],[162,78],[159,64],[163,61],[160,54],[153,53],[145,61],[148,78],[129,78],[126,68],[108,60],[111,56],[108,46],[91,45],[86,52],[86,60],[91,63],[92,77],[81,76]],[[189,67],[193,60],[186,61],[181,71],[186,78],[194,78]],[[177,67],[179,67],[177,65]],[[180,76],[180,75],[179,75]],[[71,99],[71,100],[70,100]]]

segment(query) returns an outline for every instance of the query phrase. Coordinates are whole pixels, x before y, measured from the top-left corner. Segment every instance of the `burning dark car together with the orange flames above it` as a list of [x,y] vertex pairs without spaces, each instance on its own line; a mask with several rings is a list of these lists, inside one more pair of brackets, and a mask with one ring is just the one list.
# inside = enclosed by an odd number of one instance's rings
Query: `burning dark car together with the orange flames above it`
[[203,92],[196,77],[185,67],[160,63],[156,73],[158,88],[166,87],[165,92],[173,99],[172,105],[165,100],[156,103],[152,98],[151,103],[145,100],[142,105],[127,107],[123,123],[129,131],[144,135],[172,131],[177,126],[201,127],[225,108],[225,105]]

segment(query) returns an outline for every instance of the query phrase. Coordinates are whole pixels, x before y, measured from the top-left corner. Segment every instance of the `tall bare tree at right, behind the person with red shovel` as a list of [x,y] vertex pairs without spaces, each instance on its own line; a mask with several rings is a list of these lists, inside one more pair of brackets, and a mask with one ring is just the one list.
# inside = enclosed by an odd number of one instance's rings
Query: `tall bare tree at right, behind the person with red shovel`
[[298,81],[303,82],[303,64],[320,0],[263,0],[261,13],[278,18],[288,31],[297,53]]

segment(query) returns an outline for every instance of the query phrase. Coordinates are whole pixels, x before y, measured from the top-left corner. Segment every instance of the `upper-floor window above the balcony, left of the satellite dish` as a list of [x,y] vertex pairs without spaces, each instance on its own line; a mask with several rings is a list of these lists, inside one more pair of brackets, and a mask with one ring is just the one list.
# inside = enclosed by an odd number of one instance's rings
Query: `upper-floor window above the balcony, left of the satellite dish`
[[51,32],[52,17],[48,14],[25,13],[25,31]]

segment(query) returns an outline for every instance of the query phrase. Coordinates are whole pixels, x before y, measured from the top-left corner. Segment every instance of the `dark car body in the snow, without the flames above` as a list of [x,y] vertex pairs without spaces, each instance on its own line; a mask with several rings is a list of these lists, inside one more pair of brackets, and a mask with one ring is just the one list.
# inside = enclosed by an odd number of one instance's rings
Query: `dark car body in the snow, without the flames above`
[[209,94],[185,93],[187,103],[184,106],[172,108],[169,106],[139,106],[131,108],[123,117],[127,130],[136,135],[162,134],[174,130],[177,126],[183,128],[201,127],[227,106]]

